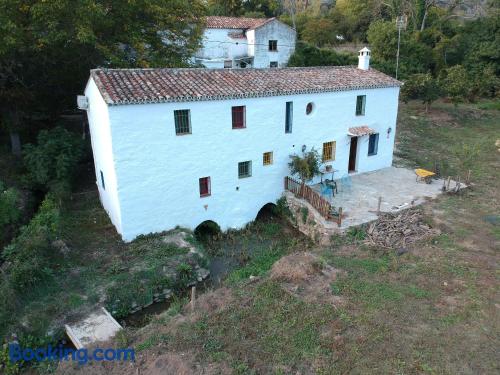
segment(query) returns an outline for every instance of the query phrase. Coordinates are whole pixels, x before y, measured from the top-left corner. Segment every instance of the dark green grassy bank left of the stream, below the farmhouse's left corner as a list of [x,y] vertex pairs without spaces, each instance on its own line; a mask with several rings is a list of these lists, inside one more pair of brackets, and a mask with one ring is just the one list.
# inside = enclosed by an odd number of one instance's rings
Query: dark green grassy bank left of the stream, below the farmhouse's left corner
[[[164,267],[183,269],[191,279],[188,249],[162,241],[162,235],[143,236],[125,244],[116,234],[94,192],[76,193],[62,213],[63,239],[69,254],[54,254],[52,277],[16,296],[15,319],[2,322],[2,335],[62,337],[63,324],[102,305],[116,318],[128,315],[133,303],[152,302],[153,293],[164,288],[182,289],[183,284],[167,275]],[[193,240],[194,241],[194,240]],[[206,265],[196,257],[192,262]],[[21,326],[25,325],[25,328]],[[26,332],[25,332],[26,331]]]

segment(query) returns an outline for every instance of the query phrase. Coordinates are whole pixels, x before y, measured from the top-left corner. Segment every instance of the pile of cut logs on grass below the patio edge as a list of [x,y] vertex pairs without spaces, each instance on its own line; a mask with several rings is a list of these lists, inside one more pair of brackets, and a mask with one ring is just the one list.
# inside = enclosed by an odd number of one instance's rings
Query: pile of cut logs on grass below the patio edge
[[405,249],[407,245],[439,233],[423,220],[418,209],[395,214],[385,213],[368,226],[365,243],[373,246]]

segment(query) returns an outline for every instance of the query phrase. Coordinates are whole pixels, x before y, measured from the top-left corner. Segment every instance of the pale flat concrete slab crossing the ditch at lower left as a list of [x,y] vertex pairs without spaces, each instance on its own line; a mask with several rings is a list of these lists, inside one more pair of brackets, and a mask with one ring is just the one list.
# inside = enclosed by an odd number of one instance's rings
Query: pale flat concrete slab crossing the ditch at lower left
[[111,314],[101,307],[85,319],[74,324],[66,324],[66,333],[77,349],[85,348],[99,341],[112,338],[120,329],[121,325]]

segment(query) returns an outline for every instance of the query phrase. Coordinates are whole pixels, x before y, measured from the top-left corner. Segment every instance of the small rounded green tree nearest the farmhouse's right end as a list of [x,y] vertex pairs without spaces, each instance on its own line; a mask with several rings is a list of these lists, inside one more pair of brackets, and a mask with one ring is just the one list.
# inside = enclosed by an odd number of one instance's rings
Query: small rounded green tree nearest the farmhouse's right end
[[441,94],[441,89],[437,81],[430,73],[413,74],[405,81],[401,90],[403,100],[419,99],[425,104],[425,111],[428,112],[433,101],[437,100]]

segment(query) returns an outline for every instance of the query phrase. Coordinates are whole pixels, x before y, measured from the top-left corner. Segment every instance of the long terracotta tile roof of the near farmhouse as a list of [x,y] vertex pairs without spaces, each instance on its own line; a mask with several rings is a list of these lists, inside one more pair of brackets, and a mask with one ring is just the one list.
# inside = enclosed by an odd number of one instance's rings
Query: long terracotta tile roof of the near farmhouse
[[355,66],[95,69],[90,73],[110,105],[252,98],[401,85],[377,70],[361,70]]

